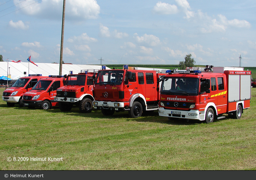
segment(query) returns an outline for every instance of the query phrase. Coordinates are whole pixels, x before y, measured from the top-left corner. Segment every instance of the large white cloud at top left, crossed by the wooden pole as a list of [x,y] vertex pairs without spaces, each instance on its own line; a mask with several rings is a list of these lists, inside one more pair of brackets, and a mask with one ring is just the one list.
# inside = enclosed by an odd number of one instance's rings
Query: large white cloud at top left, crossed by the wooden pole
[[[33,15],[45,18],[59,18],[62,15],[63,0],[13,0],[26,15]],[[22,3],[21,3],[22,2]],[[66,19],[96,19],[100,14],[100,6],[96,0],[68,0],[65,4]],[[56,11],[56,10],[61,11]]]

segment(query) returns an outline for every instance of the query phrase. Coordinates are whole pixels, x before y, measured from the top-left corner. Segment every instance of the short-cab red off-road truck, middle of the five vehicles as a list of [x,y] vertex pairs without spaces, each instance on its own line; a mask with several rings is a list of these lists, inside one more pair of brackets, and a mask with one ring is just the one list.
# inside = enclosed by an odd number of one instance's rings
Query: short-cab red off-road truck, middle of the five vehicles
[[81,70],[78,74],[64,75],[67,78],[65,86],[57,89],[54,101],[59,102],[61,111],[70,111],[73,105],[79,106],[81,113],[92,111],[93,78],[98,70]]

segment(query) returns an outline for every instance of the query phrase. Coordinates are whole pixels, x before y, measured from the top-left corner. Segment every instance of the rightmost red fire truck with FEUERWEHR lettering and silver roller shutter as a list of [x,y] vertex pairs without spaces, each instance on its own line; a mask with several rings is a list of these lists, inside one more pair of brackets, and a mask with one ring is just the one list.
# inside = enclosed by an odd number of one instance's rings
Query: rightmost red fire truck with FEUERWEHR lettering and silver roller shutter
[[213,122],[241,118],[250,107],[251,71],[238,67],[187,68],[167,71],[162,81],[159,116]]

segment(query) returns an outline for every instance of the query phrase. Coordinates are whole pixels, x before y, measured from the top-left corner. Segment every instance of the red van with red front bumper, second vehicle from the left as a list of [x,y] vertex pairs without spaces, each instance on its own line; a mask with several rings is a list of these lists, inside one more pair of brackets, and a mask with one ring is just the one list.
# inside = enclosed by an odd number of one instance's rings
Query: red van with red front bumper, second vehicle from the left
[[59,105],[54,101],[56,90],[64,84],[65,78],[61,75],[49,75],[40,79],[31,90],[23,94],[22,103],[28,108],[52,109]]

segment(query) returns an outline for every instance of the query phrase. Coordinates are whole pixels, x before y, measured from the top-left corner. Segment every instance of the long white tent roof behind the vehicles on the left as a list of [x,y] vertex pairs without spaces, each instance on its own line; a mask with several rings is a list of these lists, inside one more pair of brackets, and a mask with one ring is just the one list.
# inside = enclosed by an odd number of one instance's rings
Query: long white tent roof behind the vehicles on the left
[[[0,62],[0,76],[7,77],[7,68],[9,69],[8,75],[11,74],[11,79],[19,79],[20,77],[28,76],[28,74],[41,74],[42,76],[59,75],[60,64],[36,64],[38,66],[32,64],[31,62]],[[99,70],[101,69],[101,65],[62,64],[62,75],[69,74],[69,71],[73,71],[73,74],[78,74],[81,72],[81,70],[87,69]],[[110,68],[106,67],[106,69]],[[26,75],[24,75],[24,72],[26,72]]]

